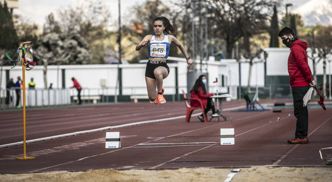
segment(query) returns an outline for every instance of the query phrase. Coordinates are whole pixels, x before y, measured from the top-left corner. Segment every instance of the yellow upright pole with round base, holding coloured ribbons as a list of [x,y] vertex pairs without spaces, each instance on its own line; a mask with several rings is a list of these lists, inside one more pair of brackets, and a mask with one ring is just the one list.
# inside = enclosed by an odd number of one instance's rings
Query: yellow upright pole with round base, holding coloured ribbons
[[[23,42],[22,46],[24,47],[24,45],[26,44],[32,44],[32,42]],[[25,56],[24,51],[22,57]],[[23,58],[22,58],[22,84],[23,84],[23,158],[16,158],[18,160],[20,159],[36,159],[36,157],[26,157],[26,132],[25,132],[25,68],[24,68],[24,62],[23,62]]]

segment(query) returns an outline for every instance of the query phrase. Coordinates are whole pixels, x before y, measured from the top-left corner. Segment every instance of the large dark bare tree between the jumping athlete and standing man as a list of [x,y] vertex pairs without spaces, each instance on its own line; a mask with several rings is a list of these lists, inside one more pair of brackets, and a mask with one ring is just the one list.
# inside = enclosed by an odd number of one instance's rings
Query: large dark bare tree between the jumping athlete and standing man
[[270,0],[210,0],[209,12],[214,18],[216,36],[226,41],[226,58],[231,58],[236,41],[243,37],[243,46],[250,48],[249,37],[266,32],[269,28],[270,9],[275,5]]

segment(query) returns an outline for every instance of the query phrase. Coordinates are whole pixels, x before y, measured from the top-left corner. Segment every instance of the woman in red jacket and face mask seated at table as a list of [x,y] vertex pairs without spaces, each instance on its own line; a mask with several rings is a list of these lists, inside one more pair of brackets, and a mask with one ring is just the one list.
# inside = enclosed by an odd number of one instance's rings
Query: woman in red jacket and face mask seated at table
[[[196,80],[193,89],[190,91],[190,95],[192,98],[197,98],[202,101],[202,104],[205,108],[204,113],[205,115],[209,110],[212,110],[212,116],[218,116],[219,114],[215,112],[214,104],[210,96],[214,94],[207,94],[207,90],[205,88],[205,84],[207,82],[205,75],[200,75],[200,77]],[[200,103],[196,100],[190,100],[190,105],[192,107],[199,107],[201,106]],[[198,116],[198,118],[204,122],[203,113]]]

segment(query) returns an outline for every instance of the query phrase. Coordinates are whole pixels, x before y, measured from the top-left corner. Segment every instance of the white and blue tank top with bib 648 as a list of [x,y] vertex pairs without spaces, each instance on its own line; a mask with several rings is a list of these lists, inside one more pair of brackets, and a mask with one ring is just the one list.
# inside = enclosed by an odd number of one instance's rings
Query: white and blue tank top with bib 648
[[166,58],[169,54],[169,41],[168,41],[168,35],[164,34],[164,40],[157,41],[154,37],[154,34],[152,35],[152,38],[150,40],[150,44],[147,47],[147,51],[149,54],[149,58]]

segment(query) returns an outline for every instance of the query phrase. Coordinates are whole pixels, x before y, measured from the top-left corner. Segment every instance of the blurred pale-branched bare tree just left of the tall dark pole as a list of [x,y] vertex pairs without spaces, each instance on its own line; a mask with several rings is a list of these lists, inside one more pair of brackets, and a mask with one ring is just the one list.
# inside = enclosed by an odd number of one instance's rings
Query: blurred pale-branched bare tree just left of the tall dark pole
[[111,17],[110,9],[105,7],[102,1],[86,0],[58,11],[58,25],[61,30],[66,34],[77,32],[91,45],[93,63],[103,63],[106,49],[104,40],[111,35],[107,30]]

